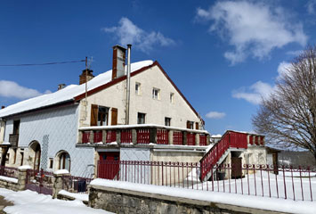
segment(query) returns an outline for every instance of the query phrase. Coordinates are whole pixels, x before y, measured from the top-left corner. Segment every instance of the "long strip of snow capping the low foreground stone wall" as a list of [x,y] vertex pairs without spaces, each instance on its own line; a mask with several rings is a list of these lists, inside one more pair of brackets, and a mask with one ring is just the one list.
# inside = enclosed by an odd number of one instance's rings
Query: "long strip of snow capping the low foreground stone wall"
[[217,193],[209,191],[192,190],[161,185],[141,185],[130,182],[112,181],[97,178],[91,185],[102,185],[113,188],[123,188],[126,190],[158,193],[180,198],[195,199],[207,202],[220,202],[242,207],[250,207],[261,210],[275,210],[288,213],[311,213],[316,210],[316,202],[296,202],[277,198],[266,198],[252,195],[240,195],[234,193]]

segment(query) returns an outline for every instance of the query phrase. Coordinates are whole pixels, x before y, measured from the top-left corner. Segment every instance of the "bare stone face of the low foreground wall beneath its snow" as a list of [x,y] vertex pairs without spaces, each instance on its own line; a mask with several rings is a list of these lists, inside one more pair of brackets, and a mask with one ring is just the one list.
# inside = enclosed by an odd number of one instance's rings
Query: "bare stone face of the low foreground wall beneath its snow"
[[89,190],[90,207],[115,213],[280,213],[101,185]]

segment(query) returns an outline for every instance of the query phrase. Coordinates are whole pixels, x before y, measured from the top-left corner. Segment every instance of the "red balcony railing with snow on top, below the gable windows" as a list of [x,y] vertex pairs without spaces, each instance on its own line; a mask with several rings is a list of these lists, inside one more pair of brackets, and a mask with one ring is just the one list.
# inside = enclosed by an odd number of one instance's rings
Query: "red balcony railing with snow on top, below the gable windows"
[[79,128],[78,144],[209,144],[205,130],[152,124]]

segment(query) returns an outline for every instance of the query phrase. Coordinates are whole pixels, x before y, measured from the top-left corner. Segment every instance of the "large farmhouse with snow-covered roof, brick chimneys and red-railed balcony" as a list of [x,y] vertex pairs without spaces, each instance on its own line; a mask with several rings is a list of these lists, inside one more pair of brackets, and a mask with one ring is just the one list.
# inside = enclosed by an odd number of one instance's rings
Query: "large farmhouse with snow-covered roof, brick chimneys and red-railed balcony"
[[199,161],[209,135],[198,112],[158,62],[132,63],[130,78],[125,62],[116,45],[112,70],[0,110],[2,165],[90,177],[99,160]]

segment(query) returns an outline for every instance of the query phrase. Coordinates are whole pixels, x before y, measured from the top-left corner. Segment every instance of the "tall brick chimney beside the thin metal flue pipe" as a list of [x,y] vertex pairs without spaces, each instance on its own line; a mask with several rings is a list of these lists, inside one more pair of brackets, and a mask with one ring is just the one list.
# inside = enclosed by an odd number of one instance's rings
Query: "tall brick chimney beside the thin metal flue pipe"
[[126,48],[113,46],[112,80],[126,75]]

